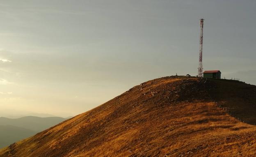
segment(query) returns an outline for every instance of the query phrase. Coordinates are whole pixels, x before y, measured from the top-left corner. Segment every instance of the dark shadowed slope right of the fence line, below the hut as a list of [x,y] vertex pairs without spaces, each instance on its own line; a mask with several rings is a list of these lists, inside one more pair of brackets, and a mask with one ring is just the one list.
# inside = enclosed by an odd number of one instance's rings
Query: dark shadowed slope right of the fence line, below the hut
[[233,117],[256,125],[256,86],[234,80],[208,80],[210,95]]

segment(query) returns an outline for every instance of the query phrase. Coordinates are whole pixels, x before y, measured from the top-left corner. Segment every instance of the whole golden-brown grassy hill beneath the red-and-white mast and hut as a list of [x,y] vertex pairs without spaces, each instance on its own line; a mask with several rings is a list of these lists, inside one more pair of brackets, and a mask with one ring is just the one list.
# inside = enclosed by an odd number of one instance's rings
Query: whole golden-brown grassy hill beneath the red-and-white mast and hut
[[[151,80],[0,150],[0,156],[254,157],[256,127],[228,113],[254,123],[255,89],[194,77]],[[240,90],[249,95],[237,97]]]

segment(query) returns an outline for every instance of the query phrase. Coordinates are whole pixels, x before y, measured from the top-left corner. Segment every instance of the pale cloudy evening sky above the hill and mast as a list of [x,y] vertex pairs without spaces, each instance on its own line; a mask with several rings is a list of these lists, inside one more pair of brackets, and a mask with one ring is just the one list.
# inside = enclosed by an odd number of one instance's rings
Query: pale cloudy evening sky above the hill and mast
[[255,0],[0,0],[0,116],[78,115],[158,77],[256,84]]

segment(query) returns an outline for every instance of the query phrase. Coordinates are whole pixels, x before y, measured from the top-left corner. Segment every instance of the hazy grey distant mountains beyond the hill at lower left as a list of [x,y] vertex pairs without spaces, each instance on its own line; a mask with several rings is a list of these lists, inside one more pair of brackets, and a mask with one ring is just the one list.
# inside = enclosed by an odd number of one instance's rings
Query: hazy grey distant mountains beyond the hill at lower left
[[0,148],[30,137],[69,118],[27,116],[10,119],[0,117]]

